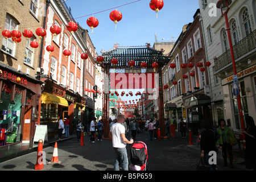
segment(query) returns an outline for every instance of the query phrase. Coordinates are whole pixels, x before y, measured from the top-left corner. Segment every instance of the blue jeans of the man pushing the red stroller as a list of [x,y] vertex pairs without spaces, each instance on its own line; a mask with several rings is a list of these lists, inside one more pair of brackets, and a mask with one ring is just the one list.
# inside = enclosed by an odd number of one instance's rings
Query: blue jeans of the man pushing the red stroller
[[128,156],[126,147],[114,148],[115,151],[115,164],[114,171],[119,171],[119,165],[122,163],[123,171],[128,171]]

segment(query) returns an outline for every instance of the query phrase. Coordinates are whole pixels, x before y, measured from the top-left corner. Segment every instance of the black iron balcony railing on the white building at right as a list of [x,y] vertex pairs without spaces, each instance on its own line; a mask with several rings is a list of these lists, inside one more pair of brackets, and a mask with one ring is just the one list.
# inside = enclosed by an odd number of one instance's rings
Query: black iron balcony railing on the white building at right
[[[241,56],[245,55],[246,53],[250,52],[255,48],[256,48],[256,30],[233,46],[235,60],[237,60],[238,58],[240,58]],[[232,59],[231,59],[231,53],[229,49],[220,57],[214,60],[216,72],[230,63],[232,63]]]

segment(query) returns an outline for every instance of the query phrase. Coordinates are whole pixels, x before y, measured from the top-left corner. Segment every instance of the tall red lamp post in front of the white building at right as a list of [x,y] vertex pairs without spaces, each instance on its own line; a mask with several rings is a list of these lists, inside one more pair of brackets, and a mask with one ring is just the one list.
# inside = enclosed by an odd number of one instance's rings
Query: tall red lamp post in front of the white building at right
[[[217,2],[217,8],[221,9],[221,16],[225,17],[226,32],[228,33],[229,47],[230,47],[230,53],[231,53],[231,59],[232,59],[232,64],[233,64],[233,71],[234,71],[233,80],[234,80],[234,83],[237,82],[237,84],[238,84],[236,61],[235,61],[235,58],[234,58],[234,50],[233,50],[232,39],[231,39],[231,35],[230,35],[229,20],[228,20],[228,11],[229,11],[229,6],[230,6],[231,3],[232,3],[232,0],[220,0],[220,1]],[[243,113],[242,113],[242,104],[241,104],[240,93],[238,93],[238,95],[237,95],[237,103],[238,103],[238,110],[239,110],[239,115],[240,115],[241,129],[244,130],[245,129],[245,122],[243,121]],[[246,147],[246,145],[245,145],[245,134],[243,134],[243,149],[246,149],[245,147]]]

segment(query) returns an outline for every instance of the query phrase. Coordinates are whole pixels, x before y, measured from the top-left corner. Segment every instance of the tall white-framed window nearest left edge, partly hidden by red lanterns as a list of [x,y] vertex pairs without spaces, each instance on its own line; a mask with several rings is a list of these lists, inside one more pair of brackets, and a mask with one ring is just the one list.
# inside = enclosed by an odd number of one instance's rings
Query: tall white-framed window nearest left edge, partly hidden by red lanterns
[[[17,29],[18,29],[18,23],[15,22],[15,20],[12,19],[10,16],[7,15],[5,19],[5,30],[13,31]],[[2,50],[14,56],[15,44],[13,40],[11,40],[10,38],[9,39],[3,38]]]

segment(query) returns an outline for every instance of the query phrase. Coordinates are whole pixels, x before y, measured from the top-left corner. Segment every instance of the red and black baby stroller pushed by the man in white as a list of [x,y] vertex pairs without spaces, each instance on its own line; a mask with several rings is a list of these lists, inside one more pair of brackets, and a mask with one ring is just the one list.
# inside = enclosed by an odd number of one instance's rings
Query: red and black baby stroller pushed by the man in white
[[147,146],[144,142],[134,142],[130,146],[131,164],[129,169],[131,171],[148,171],[147,167]]

